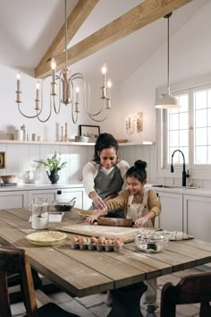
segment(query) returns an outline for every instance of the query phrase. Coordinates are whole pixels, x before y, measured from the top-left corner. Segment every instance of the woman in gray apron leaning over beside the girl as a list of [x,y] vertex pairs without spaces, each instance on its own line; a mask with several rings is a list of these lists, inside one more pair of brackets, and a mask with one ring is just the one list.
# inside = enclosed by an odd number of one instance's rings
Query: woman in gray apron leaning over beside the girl
[[[124,189],[129,164],[118,159],[117,154],[118,142],[114,136],[101,133],[95,144],[94,159],[82,172],[85,191],[93,201],[90,209],[104,209],[105,201],[113,199]],[[118,217],[121,217],[119,213]]]

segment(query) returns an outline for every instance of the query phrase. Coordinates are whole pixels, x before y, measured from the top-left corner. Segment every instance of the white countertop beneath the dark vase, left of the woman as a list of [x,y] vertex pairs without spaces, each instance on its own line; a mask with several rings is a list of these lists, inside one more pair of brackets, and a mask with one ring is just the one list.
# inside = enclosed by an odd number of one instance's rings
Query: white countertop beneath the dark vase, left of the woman
[[61,188],[83,188],[82,182],[68,183],[68,184],[17,184],[10,186],[0,186],[1,192],[13,191],[36,191],[40,189],[61,189]]

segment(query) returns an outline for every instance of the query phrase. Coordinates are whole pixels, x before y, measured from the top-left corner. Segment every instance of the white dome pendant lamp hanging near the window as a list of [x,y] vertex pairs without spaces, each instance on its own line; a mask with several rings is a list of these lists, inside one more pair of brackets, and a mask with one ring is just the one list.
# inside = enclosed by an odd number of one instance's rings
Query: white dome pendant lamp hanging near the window
[[173,109],[181,107],[180,100],[173,97],[170,92],[170,80],[169,80],[169,18],[172,13],[168,13],[164,16],[167,18],[167,94],[162,94],[161,98],[157,100],[156,106],[159,109]]

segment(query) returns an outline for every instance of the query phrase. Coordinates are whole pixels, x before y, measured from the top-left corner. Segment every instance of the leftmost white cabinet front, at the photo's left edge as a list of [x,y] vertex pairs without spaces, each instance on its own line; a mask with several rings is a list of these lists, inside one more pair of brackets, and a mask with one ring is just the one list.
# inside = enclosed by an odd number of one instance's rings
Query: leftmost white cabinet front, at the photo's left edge
[[9,191],[0,193],[0,210],[28,207],[26,191]]

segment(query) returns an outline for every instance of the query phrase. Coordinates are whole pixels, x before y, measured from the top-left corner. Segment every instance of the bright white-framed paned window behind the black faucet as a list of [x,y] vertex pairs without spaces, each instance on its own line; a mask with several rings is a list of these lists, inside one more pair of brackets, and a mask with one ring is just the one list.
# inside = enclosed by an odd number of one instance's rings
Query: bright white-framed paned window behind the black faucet
[[[174,95],[181,100],[182,107],[164,110],[161,166],[168,168],[174,150],[184,153],[185,163],[191,169],[211,165],[211,85]],[[179,152],[175,153],[173,163],[183,163]]]

